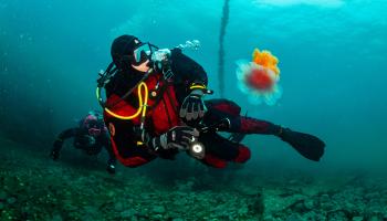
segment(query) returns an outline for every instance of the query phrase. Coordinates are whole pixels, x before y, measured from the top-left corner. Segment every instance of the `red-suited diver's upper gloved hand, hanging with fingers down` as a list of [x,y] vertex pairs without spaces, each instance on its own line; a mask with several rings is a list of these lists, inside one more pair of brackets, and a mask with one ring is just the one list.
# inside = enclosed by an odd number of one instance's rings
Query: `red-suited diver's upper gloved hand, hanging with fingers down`
[[180,117],[186,120],[201,119],[205,116],[206,106],[201,97],[202,90],[194,90],[182,102],[180,108]]

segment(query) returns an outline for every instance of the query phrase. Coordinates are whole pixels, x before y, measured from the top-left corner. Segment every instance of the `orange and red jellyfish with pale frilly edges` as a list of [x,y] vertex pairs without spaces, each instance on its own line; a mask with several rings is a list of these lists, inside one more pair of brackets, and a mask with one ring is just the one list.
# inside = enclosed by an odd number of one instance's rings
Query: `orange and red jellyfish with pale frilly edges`
[[274,105],[282,95],[279,60],[269,51],[255,49],[252,62],[237,63],[237,77],[239,88],[248,95],[250,103]]

